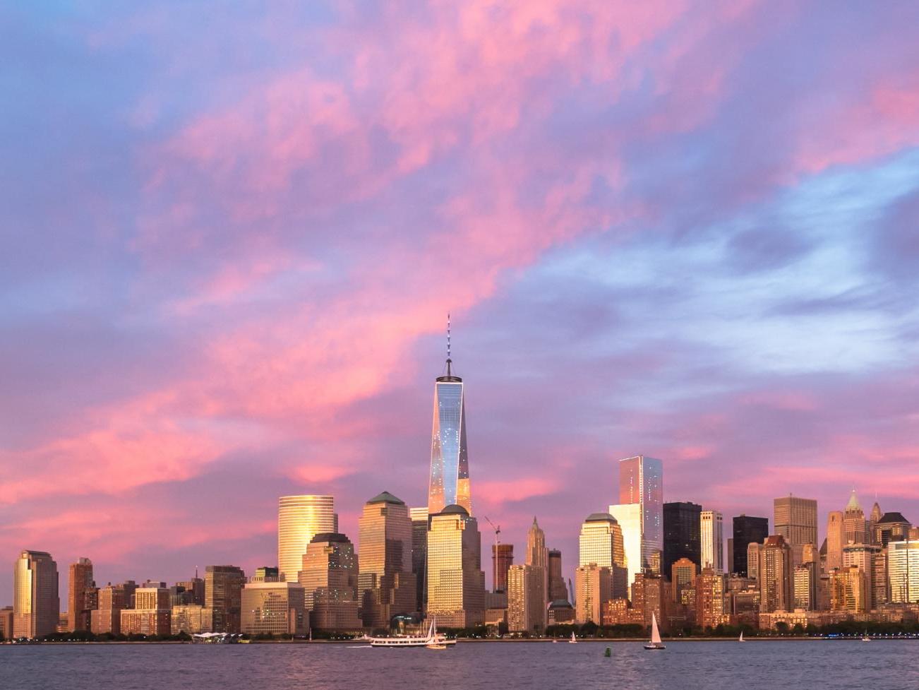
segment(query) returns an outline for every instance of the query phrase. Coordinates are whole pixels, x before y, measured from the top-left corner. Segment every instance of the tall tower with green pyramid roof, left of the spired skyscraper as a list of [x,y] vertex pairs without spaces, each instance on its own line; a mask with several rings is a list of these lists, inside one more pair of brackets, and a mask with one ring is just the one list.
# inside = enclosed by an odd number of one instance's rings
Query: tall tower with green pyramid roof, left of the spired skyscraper
[[364,504],[359,524],[357,584],[366,627],[389,627],[414,612],[412,518],[403,500],[383,491]]

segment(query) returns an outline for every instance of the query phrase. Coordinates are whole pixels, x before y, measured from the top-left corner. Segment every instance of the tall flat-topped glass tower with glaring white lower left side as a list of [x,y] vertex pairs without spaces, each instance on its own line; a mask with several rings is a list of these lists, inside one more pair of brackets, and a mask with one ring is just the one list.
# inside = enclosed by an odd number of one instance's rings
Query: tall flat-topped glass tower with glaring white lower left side
[[[619,460],[619,501],[609,506],[621,530],[629,584],[645,570],[660,572],[664,549],[664,463],[635,455]],[[656,568],[655,568],[656,566]]]

